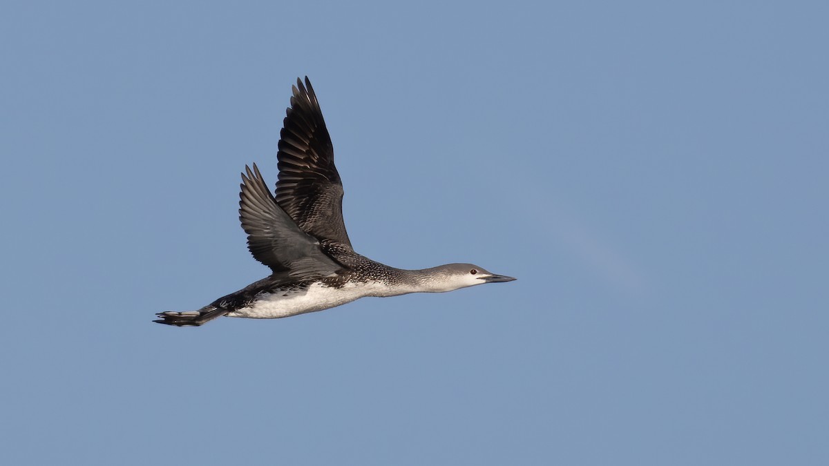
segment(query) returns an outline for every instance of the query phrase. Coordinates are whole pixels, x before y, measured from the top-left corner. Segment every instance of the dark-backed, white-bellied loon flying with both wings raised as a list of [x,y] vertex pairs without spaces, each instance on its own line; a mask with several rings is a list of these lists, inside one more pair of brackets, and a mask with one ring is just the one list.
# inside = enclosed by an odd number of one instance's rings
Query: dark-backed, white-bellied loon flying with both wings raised
[[331,136],[308,76],[297,79],[280,133],[275,196],[259,168],[245,166],[239,220],[248,249],[271,274],[197,311],[167,311],[154,322],[198,326],[221,316],[284,318],[366,296],[442,293],[508,282],[473,264],[395,269],[351,249],[342,221],[342,182]]

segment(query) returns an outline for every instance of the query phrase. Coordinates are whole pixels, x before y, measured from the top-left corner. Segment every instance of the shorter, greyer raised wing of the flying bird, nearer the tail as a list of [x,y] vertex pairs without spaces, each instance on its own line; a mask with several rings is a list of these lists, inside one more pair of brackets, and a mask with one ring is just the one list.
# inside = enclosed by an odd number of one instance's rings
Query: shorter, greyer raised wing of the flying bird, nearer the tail
[[248,249],[274,272],[295,277],[326,276],[342,265],[322,253],[318,240],[299,229],[274,201],[259,168],[245,166],[239,193],[239,220],[248,234]]

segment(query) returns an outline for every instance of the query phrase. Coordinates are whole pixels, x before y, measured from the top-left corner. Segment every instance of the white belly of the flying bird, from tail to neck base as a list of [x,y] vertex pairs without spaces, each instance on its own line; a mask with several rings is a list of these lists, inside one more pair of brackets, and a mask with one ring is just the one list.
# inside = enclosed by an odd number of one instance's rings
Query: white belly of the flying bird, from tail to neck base
[[259,294],[250,306],[228,313],[228,317],[283,318],[334,308],[365,296],[382,296],[388,288],[378,282],[346,284],[341,288],[312,284],[307,290]]

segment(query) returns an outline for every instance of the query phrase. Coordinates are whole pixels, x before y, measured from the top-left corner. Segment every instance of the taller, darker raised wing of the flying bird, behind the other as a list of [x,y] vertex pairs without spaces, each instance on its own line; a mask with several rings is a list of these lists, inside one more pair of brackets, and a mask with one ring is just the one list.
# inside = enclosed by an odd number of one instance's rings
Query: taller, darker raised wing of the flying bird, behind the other
[[342,181],[334,167],[331,136],[311,81],[297,79],[279,133],[276,201],[299,228],[318,240],[351,247],[342,221]]

